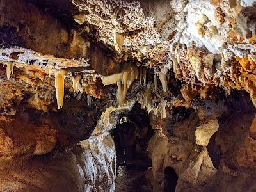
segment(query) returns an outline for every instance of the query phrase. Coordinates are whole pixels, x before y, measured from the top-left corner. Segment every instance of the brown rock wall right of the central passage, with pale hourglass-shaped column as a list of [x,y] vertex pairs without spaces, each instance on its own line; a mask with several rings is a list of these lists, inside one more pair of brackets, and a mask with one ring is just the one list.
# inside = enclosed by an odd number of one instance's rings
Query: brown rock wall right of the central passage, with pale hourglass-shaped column
[[177,115],[170,111],[163,120],[152,116],[155,135],[148,145],[152,169],[147,175],[154,191],[163,191],[168,167],[179,176],[176,191],[255,190],[255,108],[243,95],[229,99],[201,103],[196,112],[179,109]]

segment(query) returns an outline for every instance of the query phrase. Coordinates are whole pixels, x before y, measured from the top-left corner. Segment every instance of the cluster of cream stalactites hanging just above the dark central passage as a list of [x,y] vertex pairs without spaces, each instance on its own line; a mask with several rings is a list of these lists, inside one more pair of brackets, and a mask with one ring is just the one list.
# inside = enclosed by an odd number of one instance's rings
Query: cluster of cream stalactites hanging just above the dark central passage
[[[163,68],[158,73],[159,80],[161,81],[162,88],[166,92],[168,90],[167,81],[168,68]],[[109,84],[117,83],[116,97],[118,103],[122,106],[127,91],[131,87],[135,79],[139,79],[140,84],[143,84],[144,88],[140,92],[140,104],[141,109],[147,109],[148,113],[154,111],[155,115],[161,114],[162,118],[166,117],[166,104],[167,101],[164,99],[156,100],[152,99],[152,92],[157,95],[157,74],[154,74],[154,84],[152,82],[147,83],[147,68],[137,67],[136,65],[127,65],[122,72],[113,74],[111,76],[102,77],[102,83],[106,86]]]

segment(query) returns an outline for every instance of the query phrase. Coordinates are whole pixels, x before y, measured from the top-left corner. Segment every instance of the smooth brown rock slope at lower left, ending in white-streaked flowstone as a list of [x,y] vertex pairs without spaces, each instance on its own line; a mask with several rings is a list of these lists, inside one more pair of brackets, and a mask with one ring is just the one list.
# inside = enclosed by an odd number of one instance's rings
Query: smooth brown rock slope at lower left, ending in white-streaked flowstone
[[115,148],[113,139],[103,141],[104,150],[71,147],[24,163],[1,162],[0,191],[111,191]]

